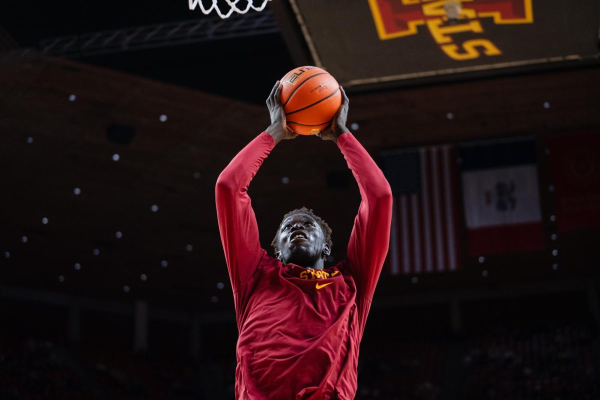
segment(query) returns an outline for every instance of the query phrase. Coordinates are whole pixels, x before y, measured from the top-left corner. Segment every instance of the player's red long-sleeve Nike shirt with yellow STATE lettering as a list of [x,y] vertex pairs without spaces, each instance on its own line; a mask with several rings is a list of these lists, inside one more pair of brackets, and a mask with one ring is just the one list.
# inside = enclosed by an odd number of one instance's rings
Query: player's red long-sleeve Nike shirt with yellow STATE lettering
[[217,216],[233,288],[239,339],[236,399],[351,400],[358,346],[388,251],[392,194],[351,133],[338,147],[361,205],[347,258],[323,270],[283,265],[260,247],[247,190],[275,142],[262,133],[217,181]]

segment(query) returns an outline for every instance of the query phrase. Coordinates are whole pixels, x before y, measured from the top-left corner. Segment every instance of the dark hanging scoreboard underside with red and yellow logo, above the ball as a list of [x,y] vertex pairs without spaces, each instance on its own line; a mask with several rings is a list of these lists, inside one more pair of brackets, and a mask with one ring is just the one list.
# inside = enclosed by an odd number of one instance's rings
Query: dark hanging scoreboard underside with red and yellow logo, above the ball
[[[595,64],[598,0],[284,0],[296,62],[347,87]],[[287,8],[285,12],[284,8]]]

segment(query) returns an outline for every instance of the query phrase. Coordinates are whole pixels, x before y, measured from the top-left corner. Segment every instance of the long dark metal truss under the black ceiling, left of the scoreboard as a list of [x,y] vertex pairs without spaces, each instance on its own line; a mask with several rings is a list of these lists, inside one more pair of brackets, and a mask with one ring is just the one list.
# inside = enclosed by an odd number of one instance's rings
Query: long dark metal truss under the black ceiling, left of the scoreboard
[[279,32],[270,10],[228,19],[204,17],[42,40],[40,52],[71,58]]

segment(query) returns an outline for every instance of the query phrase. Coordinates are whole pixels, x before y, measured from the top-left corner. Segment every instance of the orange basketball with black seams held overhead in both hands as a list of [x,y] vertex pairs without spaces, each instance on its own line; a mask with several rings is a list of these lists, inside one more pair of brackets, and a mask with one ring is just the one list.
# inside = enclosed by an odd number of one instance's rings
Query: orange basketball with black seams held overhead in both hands
[[295,68],[282,79],[281,104],[287,127],[301,135],[316,135],[331,126],[340,108],[340,85],[318,67]]

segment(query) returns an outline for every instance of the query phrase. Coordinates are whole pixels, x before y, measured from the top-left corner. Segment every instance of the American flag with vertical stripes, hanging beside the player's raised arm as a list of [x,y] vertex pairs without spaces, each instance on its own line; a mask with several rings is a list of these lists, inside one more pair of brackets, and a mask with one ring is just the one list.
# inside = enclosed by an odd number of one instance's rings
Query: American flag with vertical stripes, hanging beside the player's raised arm
[[460,267],[456,160],[451,145],[382,153],[382,170],[394,194],[388,254],[392,275]]

